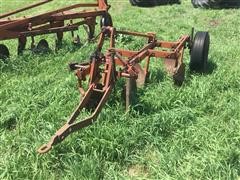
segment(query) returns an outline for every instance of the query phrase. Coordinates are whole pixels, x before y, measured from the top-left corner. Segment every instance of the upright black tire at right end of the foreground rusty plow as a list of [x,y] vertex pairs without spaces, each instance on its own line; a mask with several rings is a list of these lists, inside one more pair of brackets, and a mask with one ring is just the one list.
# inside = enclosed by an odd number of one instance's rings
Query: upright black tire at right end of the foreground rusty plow
[[191,48],[190,70],[203,73],[207,68],[210,36],[208,32],[197,32]]

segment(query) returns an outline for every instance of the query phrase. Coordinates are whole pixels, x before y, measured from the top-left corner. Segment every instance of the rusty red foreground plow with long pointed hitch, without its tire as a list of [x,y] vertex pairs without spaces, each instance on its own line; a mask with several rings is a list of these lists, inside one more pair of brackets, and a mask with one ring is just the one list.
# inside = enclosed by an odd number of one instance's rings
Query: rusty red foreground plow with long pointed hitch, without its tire
[[[146,38],[147,44],[139,51],[116,48],[117,35],[130,35]],[[108,38],[109,37],[109,38]],[[105,40],[109,39],[110,47],[106,53],[101,53]],[[188,35],[182,36],[175,42],[157,40],[154,33],[138,33],[119,31],[114,27],[103,27],[96,51],[86,63],[72,63],[70,69],[75,71],[78,79],[79,91],[82,100],[69,120],[60,128],[51,140],[41,146],[38,152],[43,154],[63,141],[68,135],[91,125],[96,121],[98,114],[107,102],[116,81],[119,78],[127,79],[126,107],[131,104],[130,92],[135,84],[144,85],[149,73],[151,58],[161,58],[166,70],[173,76],[174,82],[181,85],[185,75],[183,53],[185,48],[191,49],[192,40]],[[158,50],[156,48],[162,48]],[[145,62],[144,66],[140,64]],[[82,81],[89,76],[88,89],[85,91]],[[75,122],[83,108],[90,109],[93,113],[82,121]]]

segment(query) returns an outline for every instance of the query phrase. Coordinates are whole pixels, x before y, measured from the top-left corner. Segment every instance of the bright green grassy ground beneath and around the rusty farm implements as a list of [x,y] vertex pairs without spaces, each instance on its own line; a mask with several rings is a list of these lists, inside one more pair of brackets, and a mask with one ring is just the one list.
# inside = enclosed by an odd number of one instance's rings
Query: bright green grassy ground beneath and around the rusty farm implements
[[[13,9],[4,3],[1,10]],[[187,71],[176,88],[153,60],[135,110],[124,111],[119,83],[97,123],[39,155],[36,149],[79,101],[67,63],[88,58],[95,46],[74,48],[66,35],[58,53],[16,56],[16,41],[6,41],[12,56],[0,62],[0,179],[238,179],[240,10],[193,9],[190,0],[148,9],[127,0],[110,4],[114,24],[122,29],[157,32],[165,40],[176,40],[192,26],[209,31],[209,73]],[[53,35],[47,39],[53,47]],[[121,45],[140,45],[132,43]]]

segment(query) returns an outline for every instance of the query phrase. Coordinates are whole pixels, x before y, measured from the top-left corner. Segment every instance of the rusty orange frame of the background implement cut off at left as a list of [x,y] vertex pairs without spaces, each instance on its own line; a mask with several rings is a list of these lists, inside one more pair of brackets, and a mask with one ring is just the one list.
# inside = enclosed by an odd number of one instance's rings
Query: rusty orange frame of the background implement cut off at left
[[[55,33],[58,41],[61,41],[64,32],[74,32],[78,30],[79,26],[86,26],[88,39],[92,39],[97,24],[96,18],[99,16],[103,17],[108,13],[110,8],[107,0],[96,0],[95,3],[77,3],[35,16],[24,16],[20,18],[11,17],[11,15],[24,12],[52,1],[53,0],[43,0],[0,15],[0,41],[19,39],[19,37],[31,37],[32,46],[34,47],[33,38],[35,36]],[[24,44],[21,44],[22,41],[18,42],[19,46],[25,47]],[[21,51],[22,50],[23,49],[21,49]]]

